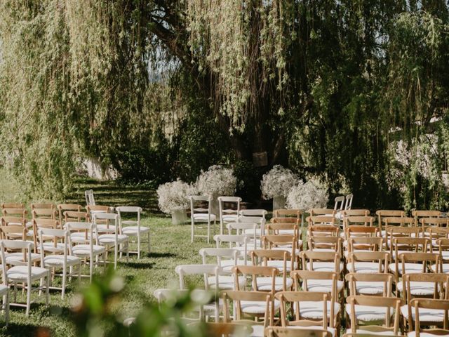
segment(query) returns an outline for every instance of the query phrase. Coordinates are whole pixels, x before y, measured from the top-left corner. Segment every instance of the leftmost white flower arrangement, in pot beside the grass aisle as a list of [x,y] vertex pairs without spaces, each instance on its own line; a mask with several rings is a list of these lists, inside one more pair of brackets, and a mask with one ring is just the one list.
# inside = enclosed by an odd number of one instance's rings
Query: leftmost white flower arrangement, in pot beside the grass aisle
[[163,213],[171,214],[173,211],[188,209],[189,196],[196,194],[196,188],[192,184],[180,179],[159,185],[157,188],[159,209]]

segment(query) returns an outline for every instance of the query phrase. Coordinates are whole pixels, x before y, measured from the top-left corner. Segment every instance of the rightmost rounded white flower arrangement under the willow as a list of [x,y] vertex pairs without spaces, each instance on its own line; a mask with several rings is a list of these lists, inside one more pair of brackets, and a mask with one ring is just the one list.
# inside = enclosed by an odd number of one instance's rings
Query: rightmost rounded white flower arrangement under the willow
[[295,185],[287,196],[287,207],[289,209],[325,208],[329,201],[328,190],[319,180],[311,179],[307,183],[302,180]]

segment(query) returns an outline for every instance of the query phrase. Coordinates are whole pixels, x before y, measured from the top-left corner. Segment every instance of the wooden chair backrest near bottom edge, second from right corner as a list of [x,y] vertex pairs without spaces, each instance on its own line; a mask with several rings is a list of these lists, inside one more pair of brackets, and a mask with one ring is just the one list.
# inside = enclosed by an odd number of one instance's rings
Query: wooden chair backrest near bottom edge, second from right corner
[[[385,328],[390,328],[394,335],[398,335],[399,332],[399,322],[401,319],[401,305],[402,301],[400,298],[394,297],[379,297],[379,296],[349,296],[346,299],[350,307],[350,319],[351,319],[351,331],[357,331],[358,324],[356,319],[356,309],[357,305],[361,305],[363,308],[368,307],[380,307],[386,308],[385,310]],[[391,312],[394,310],[394,324],[391,326]]]

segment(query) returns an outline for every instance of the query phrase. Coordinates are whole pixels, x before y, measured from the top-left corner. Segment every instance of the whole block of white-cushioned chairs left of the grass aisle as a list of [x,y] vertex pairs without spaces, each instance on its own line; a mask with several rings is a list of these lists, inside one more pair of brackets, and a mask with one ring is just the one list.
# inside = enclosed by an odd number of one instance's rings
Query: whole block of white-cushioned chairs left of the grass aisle
[[[48,305],[50,290],[60,291],[63,299],[67,282],[91,281],[95,268],[112,263],[115,269],[130,253],[140,258],[142,249],[149,251],[149,228],[140,225],[140,207],[95,205],[92,191],[86,191],[86,201],[86,206],[31,204],[31,218],[24,204],[1,204],[0,296],[6,324],[10,305],[25,307],[29,315],[32,291],[39,291]],[[136,251],[130,251],[131,242]],[[61,277],[61,286],[53,286],[55,277]],[[26,291],[26,303],[17,303],[18,289]]]

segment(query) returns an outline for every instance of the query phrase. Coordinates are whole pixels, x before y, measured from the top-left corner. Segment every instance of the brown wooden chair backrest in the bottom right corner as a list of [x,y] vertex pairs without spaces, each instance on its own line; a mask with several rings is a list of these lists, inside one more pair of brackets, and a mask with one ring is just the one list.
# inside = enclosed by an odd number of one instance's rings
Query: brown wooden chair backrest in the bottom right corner
[[[449,300],[436,300],[429,298],[413,298],[410,301],[410,307],[415,311],[415,336],[420,337],[420,333],[427,333],[434,336],[448,336],[449,326],[448,326],[448,312],[449,312]],[[443,310],[443,329],[421,329],[420,323],[420,309],[430,309],[430,310]],[[410,328],[413,325],[410,326]]]

